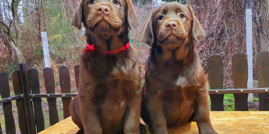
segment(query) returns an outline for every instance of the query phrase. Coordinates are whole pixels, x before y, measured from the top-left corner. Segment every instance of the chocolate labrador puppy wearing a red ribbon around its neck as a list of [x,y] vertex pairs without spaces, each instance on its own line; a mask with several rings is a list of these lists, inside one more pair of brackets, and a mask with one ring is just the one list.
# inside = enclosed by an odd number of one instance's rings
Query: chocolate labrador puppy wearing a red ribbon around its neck
[[71,24],[82,22],[87,44],[79,66],[72,120],[85,134],[138,134],[141,74],[128,32],[139,24],[131,0],[82,0]]

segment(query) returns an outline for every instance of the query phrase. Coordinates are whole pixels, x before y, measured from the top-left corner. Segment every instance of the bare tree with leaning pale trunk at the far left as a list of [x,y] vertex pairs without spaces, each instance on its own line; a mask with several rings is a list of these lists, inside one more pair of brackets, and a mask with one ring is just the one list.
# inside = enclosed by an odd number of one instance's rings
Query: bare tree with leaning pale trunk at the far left
[[[1,32],[3,32],[3,35],[8,40],[8,43],[12,50],[14,51],[15,55],[17,56],[18,62],[25,62],[25,59],[17,47],[18,44],[20,44],[20,39],[22,36],[22,32],[20,30],[19,26],[19,18],[18,18],[18,6],[20,4],[20,0],[12,0],[11,3],[6,0],[6,4],[8,7],[8,10],[11,11],[12,14],[12,20],[8,23],[5,23],[7,21],[5,18],[3,18],[3,15],[0,13],[0,28]],[[5,15],[6,16],[6,15]],[[14,27],[14,31],[11,30],[11,25]]]

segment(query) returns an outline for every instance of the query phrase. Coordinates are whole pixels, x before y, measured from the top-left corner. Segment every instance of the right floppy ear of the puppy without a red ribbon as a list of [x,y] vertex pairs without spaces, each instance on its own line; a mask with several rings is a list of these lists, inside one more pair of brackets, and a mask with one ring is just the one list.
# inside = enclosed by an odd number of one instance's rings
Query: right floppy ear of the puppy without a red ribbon
[[198,19],[193,13],[193,10],[190,5],[187,5],[191,14],[192,14],[192,37],[195,41],[199,41],[206,36],[205,31],[203,30],[202,26],[200,25]]

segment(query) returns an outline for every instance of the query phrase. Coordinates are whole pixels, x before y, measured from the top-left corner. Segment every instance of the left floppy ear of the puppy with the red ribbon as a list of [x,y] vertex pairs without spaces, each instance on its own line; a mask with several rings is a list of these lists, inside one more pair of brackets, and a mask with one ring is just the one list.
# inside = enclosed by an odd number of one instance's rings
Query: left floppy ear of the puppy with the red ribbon
[[75,14],[72,18],[71,25],[80,29],[82,23],[82,1],[79,2]]

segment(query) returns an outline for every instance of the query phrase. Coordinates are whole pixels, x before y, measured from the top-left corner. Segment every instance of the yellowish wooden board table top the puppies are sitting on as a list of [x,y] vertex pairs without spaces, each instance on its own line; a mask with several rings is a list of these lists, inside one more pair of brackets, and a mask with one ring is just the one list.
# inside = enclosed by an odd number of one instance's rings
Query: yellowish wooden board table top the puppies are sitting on
[[[211,111],[210,119],[219,134],[269,133],[269,111]],[[78,130],[68,117],[38,134],[75,134]],[[198,134],[197,124],[190,122],[179,128],[169,128],[169,134]]]

